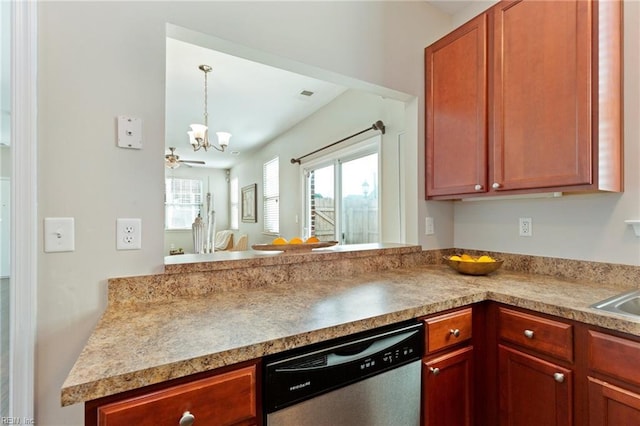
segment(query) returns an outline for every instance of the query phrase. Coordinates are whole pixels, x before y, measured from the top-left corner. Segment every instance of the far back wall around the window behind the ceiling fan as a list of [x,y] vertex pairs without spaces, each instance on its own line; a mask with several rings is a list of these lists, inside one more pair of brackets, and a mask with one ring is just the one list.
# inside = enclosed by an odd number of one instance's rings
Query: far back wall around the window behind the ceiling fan
[[[177,169],[166,169],[165,177],[200,179],[204,194],[211,193],[212,207],[215,210],[216,230],[229,229],[229,182],[224,169],[189,167],[184,164]],[[202,217],[205,217],[206,198],[204,198]],[[163,209],[164,212],[164,209]],[[195,218],[194,218],[195,219]],[[169,255],[171,247],[182,248],[185,253],[193,253],[193,232],[188,230],[164,231],[164,254]]]

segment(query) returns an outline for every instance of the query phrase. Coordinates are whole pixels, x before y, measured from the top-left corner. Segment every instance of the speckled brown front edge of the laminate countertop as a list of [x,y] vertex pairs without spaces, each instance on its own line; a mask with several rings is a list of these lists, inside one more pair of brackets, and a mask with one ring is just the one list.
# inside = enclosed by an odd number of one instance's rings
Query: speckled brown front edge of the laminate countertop
[[[249,361],[302,345],[316,343],[327,339],[324,337],[327,331],[330,331],[331,338],[340,337],[482,301],[504,303],[536,312],[555,315],[560,318],[579,321],[588,325],[640,335],[639,322],[619,318],[613,314],[599,313],[588,307],[584,309],[573,308],[560,303],[549,303],[518,296],[510,291],[496,291],[492,289],[469,290],[469,292],[463,296],[453,296],[436,303],[418,305],[371,318],[361,318],[347,323],[336,324],[331,327],[310,330],[302,334],[274,337],[273,339],[260,343],[154,366],[127,374],[105,377],[85,383],[70,383],[65,381],[61,389],[61,403],[62,406],[69,406],[199,372],[211,371],[219,367]],[[180,374],[175,374],[176,371],[179,371]],[[151,379],[149,376],[151,376]],[[67,380],[68,379],[69,377]],[[104,391],[105,387],[109,389],[108,392]],[[102,391],[100,389],[102,389]]]

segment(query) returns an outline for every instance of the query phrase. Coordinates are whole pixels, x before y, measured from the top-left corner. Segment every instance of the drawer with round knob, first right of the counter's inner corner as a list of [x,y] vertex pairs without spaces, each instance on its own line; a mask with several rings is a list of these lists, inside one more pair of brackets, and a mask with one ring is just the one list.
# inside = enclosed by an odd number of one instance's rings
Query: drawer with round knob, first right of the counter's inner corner
[[573,326],[570,324],[500,308],[498,336],[541,354],[573,361]]

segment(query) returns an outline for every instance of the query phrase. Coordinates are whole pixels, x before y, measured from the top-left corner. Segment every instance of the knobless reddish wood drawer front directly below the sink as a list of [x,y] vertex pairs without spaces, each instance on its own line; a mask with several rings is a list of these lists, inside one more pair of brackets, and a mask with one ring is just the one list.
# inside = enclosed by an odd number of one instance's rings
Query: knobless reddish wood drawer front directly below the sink
[[640,386],[640,343],[589,330],[589,368]]

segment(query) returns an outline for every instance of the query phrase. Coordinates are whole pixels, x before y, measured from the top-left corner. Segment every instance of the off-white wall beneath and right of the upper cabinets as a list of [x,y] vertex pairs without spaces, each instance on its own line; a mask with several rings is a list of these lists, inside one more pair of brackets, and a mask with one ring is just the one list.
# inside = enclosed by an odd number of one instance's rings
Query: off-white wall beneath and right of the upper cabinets
[[[454,19],[456,25],[490,3],[482,2],[473,10],[461,12]],[[640,238],[624,223],[625,219],[640,219],[640,2],[625,1],[624,14],[624,193],[511,201],[430,201],[421,205],[422,221],[434,205],[453,205],[455,247],[640,265]],[[532,218],[532,237],[518,236],[520,217]],[[445,219],[446,232],[449,226]],[[420,241],[423,246],[431,246],[438,235],[422,236]]]

